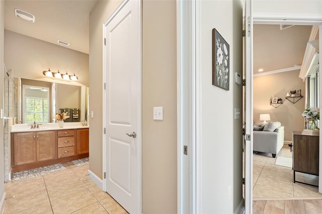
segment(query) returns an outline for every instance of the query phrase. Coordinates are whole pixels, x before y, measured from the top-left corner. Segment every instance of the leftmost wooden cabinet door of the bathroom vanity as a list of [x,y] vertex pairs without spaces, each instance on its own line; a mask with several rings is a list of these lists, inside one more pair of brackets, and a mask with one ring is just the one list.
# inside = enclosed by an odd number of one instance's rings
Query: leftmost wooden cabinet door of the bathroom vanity
[[36,162],[36,133],[14,134],[14,164],[21,165]]

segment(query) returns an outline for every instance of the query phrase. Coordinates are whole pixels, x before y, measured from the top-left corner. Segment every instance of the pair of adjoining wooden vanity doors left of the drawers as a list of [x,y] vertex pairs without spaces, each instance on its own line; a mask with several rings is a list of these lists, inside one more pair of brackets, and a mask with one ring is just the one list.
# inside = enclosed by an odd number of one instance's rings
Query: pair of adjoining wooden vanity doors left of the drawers
[[14,165],[56,158],[55,131],[14,134]]

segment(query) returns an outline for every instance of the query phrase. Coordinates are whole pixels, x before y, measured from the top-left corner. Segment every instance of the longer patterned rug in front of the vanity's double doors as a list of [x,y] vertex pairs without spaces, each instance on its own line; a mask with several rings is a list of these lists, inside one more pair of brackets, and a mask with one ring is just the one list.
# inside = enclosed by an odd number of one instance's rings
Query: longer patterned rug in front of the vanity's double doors
[[41,176],[51,172],[57,172],[60,170],[66,169],[61,163],[52,164],[49,166],[42,166],[34,169],[27,169],[20,172],[14,172],[12,177],[12,182],[25,179]]

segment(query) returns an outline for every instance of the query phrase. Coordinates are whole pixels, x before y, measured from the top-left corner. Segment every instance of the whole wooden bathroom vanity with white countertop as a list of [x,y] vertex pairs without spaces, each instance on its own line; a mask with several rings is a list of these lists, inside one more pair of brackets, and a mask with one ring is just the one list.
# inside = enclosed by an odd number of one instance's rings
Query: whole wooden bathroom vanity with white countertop
[[12,172],[89,157],[89,126],[65,123],[58,128],[54,123],[30,129],[19,125],[11,130]]

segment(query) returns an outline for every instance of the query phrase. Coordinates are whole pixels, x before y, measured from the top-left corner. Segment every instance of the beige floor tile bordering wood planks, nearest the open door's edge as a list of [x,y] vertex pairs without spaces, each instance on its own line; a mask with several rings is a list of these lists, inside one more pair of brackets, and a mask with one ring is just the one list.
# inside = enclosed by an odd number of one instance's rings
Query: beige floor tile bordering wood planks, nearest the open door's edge
[[293,197],[293,193],[287,193],[282,190],[275,190],[267,186],[256,184],[253,189],[253,198],[283,198]]

